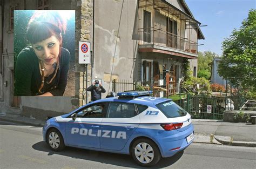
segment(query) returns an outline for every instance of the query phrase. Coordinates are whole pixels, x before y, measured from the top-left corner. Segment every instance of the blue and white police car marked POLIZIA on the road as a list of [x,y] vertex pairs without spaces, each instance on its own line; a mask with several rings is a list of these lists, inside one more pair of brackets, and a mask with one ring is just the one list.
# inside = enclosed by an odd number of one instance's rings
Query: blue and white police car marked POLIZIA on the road
[[131,91],[51,118],[43,138],[52,150],[65,146],[131,154],[142,166],[184,150],[194,139],[191,116],[171,99]]

